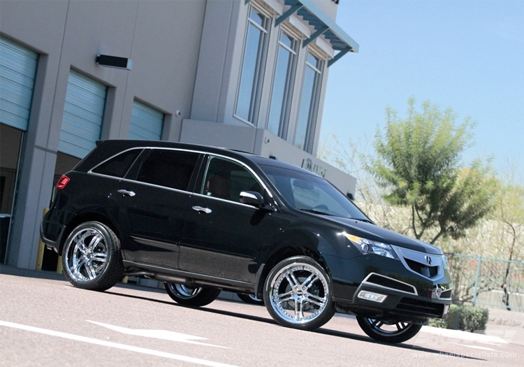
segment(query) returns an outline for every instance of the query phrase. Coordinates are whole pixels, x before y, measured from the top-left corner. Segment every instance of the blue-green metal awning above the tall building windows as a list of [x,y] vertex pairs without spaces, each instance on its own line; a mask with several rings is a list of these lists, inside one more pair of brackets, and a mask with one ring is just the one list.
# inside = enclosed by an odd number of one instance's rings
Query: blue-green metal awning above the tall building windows
[[[246,3],[249,1],[251,0],[246,0]],[[303,17],[314,28],[310,38],[303,41],[303,47],[310,44],[315,38],[323,35],[326,41],[331,43],[333,50],[338,51],[337,55],[329,60],[328,66],[333,65],[347,52],[358,52],[358,43],[344,32],[326,13],[323,13],[312,0],[284,0],[284,5],[289,6],[289,9],[277,17],[275,26],[284,22],[284,20],[295,13]]]

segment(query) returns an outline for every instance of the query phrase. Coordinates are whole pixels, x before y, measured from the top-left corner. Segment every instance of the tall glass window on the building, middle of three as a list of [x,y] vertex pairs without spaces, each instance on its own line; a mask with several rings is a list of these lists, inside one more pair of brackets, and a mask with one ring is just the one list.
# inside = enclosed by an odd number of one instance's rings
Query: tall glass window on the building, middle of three
[[289,119],[289,105],[293,92],[296,46],[298,41],[282,32],[280,34],[277,66],[271,93],[268,130],[285,139]]

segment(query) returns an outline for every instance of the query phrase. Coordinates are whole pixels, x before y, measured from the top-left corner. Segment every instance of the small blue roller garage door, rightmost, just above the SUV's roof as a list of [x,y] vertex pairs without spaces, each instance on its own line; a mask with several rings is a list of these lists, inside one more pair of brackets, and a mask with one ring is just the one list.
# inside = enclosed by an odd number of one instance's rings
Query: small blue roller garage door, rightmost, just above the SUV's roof
[[163,113],[144,103],[133,102],[129,139],[161,140]]

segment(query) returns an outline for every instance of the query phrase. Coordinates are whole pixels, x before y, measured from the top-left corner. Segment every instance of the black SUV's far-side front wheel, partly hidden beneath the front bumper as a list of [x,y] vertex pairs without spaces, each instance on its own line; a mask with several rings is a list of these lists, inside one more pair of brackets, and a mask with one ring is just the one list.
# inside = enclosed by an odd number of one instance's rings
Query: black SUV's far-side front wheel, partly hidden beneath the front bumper
[[410,322],[384,322],[361,316],[357,316],[356,321],[367,336],[384,343],[403,343],[416,336],[422,327]]

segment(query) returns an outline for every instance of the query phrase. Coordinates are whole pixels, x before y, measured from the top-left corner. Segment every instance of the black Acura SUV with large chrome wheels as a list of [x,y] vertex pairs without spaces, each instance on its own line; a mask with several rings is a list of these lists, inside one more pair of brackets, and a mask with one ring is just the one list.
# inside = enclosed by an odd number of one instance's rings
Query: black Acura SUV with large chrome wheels
[[226,289],[296,329],[344,312],[401,343],[451,304],[437,247],[377,226],[319,175],[217,147],[97,142],[61,176],[41,238],[75,287],[140,276],[191,306]]

